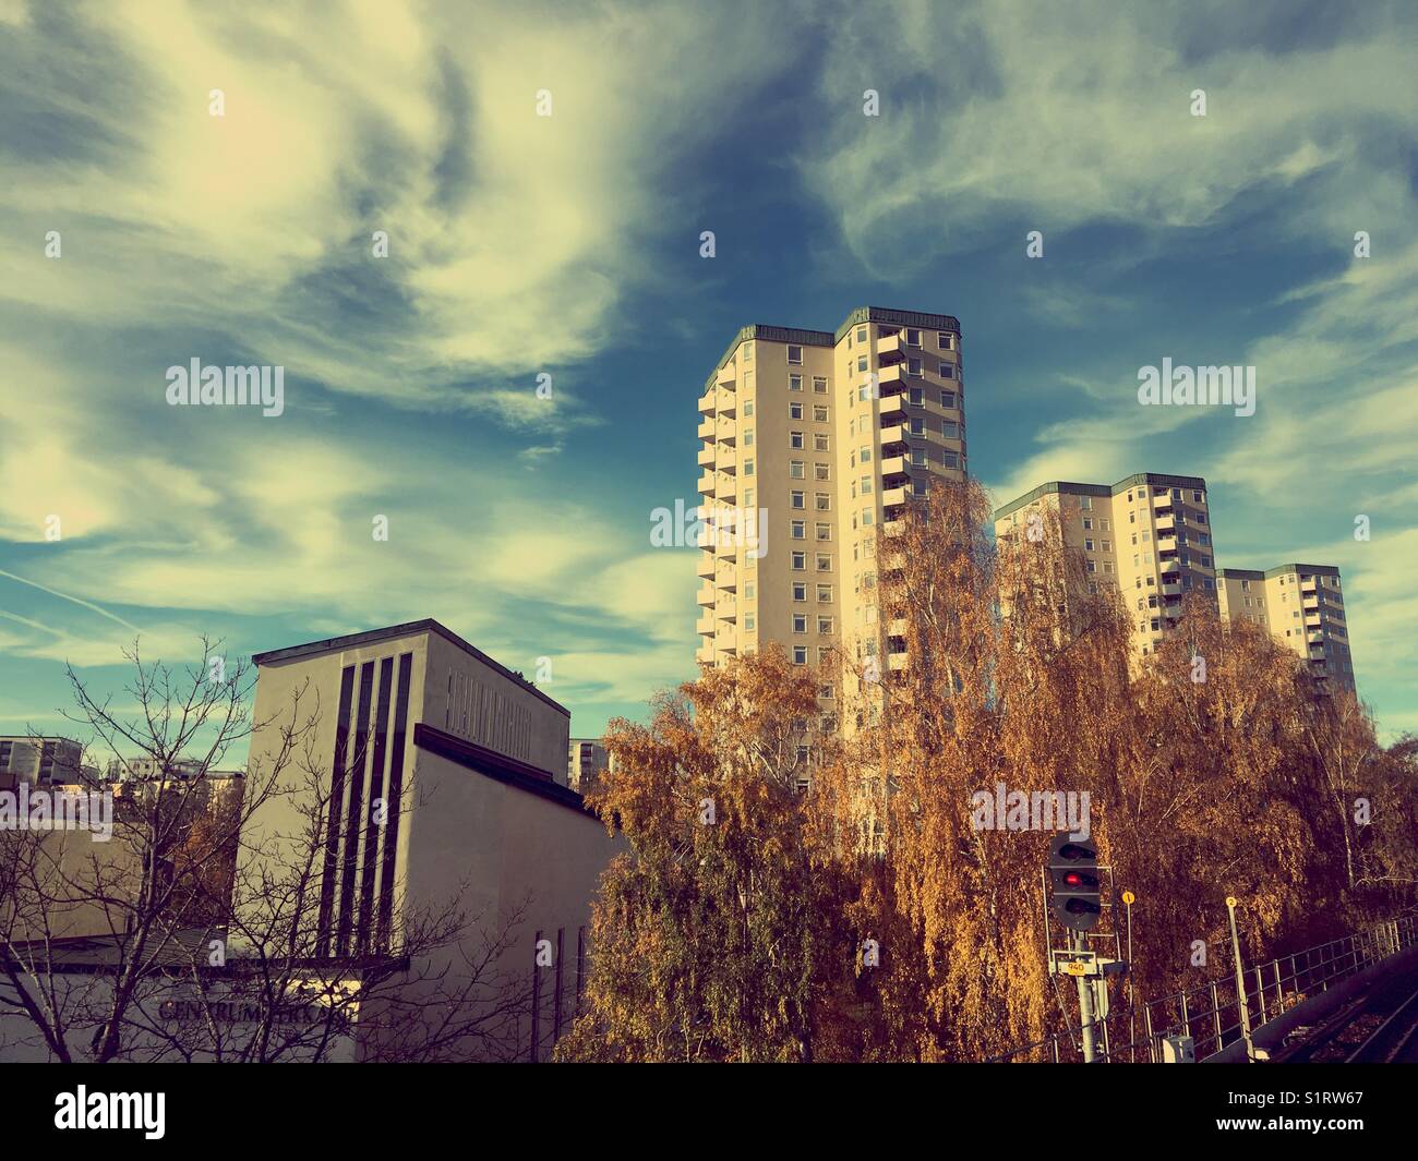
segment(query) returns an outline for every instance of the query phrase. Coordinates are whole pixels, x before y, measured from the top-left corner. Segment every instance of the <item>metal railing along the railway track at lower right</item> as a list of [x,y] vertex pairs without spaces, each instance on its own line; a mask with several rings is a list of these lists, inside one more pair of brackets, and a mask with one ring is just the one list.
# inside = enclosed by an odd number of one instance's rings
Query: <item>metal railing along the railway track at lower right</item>
[[[1245,968],[1245,999],[1252,1029],[1288,1012],[1316,991],[1329,991],[1332,984],[1414,944],[1418,944],[1418,914],[1404,914],[1306,951]],[[1229,957],[1229,948],[1227,954]],[[1163,999],[1109,1009],[1105,1019],[1093,1021],[1093,1059],[1096,1063],[1156,1065],[1161,1062],[1161,1043],[1168,1036],[1191,1036],[1198,1060],[1241,1039],[1235,971]],[[1071,1023],[1041,1041],[993,1056],[990,1063],[1076,1062],[1083,1059],[1082,1041],[1082,1025]]]

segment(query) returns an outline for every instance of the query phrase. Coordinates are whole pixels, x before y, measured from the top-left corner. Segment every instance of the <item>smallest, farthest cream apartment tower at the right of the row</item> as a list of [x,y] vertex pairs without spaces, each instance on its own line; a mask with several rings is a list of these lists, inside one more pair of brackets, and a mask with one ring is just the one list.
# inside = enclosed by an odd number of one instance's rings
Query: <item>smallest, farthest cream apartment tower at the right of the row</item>
[[1330,688],[1354,692],[1344,595],[1333,564],[1278,564],[1265,571],[1222,568],[1221,615],[1254,621],[1300,656]]

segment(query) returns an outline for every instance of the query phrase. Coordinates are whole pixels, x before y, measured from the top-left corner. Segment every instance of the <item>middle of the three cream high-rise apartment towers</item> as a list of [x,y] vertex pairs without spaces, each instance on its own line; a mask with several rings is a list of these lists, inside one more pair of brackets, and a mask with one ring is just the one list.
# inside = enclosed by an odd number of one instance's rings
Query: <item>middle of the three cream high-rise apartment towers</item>
[[1065,546],[1082,553],[1089,590],[1122,590],[1139,654],[1150,654],[1176,627],[1188,594],[1217,602],[1201,476],[1139,472],[1117,483],[1041,483],[994,513],[995,536],[1028,534],[1031,513],[1045,509],[1058,515]]

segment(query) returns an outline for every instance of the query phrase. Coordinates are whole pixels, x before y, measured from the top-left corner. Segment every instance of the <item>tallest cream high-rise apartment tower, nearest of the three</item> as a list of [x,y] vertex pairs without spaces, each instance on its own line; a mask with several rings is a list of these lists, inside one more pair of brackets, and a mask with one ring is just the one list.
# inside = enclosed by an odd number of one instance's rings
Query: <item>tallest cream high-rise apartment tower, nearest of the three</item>
[[[835,332],[744,326],[699,398],[700,645],[800,665],[879,631],[876,554],[912,496],[963,479],[960,323],[864,306]],[[837,690],[822,689],[831,713]]]

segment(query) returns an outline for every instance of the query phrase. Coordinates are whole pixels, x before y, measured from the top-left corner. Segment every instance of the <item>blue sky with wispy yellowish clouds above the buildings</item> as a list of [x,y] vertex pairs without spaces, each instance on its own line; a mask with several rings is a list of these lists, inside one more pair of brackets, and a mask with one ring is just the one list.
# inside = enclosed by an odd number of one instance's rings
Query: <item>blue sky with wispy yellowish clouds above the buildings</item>
[[[1339,566],[1418,730],[1415,50],[1411,3],[0,0],[0,733],[72,733],[67,663],[125,709],[135,636],[424,617],[644,719],[705,378],[864,305],[960,319],[997,503],[1201,475],[1218,566]],[[1164,357],[1255,414],[1141,407]],[[282,414],[170,405],[191,359]]]

